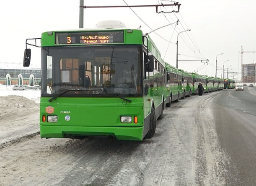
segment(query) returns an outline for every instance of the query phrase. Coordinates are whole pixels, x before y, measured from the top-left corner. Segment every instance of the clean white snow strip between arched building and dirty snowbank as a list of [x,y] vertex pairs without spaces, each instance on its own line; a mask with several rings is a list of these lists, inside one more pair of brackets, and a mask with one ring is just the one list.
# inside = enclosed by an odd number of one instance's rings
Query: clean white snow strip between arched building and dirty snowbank
[[30,100],[35,101],[36,103],[40,102],[40,90],[12,90],[11,86],[0,85],[0,96],[23,96]]

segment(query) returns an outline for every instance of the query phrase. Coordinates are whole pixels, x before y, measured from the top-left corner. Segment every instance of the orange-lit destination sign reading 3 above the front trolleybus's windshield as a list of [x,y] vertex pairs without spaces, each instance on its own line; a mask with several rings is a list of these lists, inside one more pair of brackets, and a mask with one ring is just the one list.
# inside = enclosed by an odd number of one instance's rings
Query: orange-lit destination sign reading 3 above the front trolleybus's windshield
[[56,33],[55,44],[104,44],[104,43],[123,43],[124,31],[102,31],[102,32],[70,32]]

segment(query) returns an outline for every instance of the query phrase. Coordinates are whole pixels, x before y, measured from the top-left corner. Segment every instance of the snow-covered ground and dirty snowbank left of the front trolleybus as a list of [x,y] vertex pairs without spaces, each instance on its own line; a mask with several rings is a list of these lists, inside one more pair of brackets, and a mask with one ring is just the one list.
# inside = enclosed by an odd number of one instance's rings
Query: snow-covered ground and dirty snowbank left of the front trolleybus
[[40,90],[12,90],[13,86],[0,85],[0,148],[39,132]]

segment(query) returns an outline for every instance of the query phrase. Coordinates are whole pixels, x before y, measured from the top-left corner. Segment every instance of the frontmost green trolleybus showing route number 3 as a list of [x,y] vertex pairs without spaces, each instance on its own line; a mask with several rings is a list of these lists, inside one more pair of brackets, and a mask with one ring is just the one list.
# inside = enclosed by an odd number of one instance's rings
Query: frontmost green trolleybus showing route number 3
[[106,22],[26,40],[24,66],[30,63],[27,45],[42,48],[42,138],[153,137],[166,104],[160,52],[141,30],[121,22],[100,25]]

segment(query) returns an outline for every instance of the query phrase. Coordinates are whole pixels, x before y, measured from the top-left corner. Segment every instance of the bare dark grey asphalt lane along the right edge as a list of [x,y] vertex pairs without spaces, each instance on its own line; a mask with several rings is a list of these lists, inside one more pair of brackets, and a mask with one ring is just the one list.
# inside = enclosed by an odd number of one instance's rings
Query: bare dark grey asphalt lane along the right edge
[[227,185],[256,185],[256,87],[223,90],[213,100],[213,113],[229,157]]

